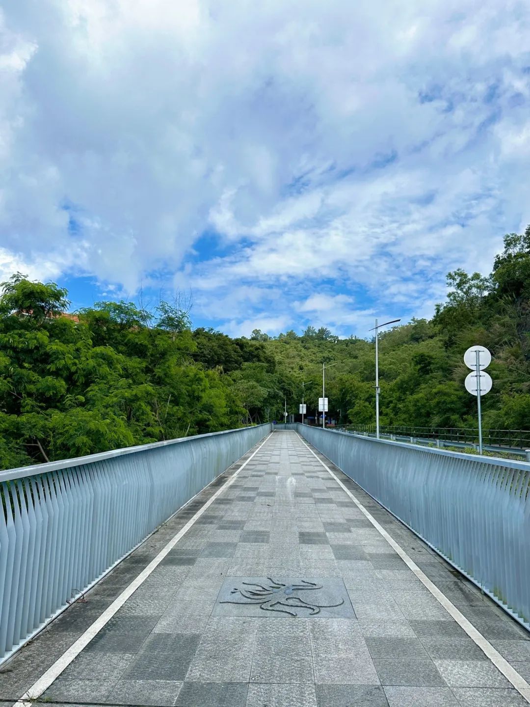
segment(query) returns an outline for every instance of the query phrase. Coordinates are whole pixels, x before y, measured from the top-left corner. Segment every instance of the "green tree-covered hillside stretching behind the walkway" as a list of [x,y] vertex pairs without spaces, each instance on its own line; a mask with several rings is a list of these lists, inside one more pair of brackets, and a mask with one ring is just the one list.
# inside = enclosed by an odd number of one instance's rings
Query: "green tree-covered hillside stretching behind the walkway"
[[[493,354],[484,426],[530,428],[530,226],[505,236],[490,276],[447,276],[431,320],[379,335],[381,422],[476,426],[462,355]],[[339,423],[375,419],[374,342],[307,327],[231,339],[192,329],[188,308],[98,302],[75,315],[54,283],[16,274],[0,297],[0,467],[138,445],[308,414],[322,395]],[[297,417],[298,419],[298,417]]]

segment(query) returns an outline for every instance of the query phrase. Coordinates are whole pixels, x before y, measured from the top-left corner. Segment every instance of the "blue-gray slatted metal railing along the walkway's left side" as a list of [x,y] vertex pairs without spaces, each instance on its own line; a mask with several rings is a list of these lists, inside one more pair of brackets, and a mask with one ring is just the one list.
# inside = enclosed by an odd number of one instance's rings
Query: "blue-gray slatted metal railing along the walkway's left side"
[[266,423],[0,472],[0,661],[270,430]]

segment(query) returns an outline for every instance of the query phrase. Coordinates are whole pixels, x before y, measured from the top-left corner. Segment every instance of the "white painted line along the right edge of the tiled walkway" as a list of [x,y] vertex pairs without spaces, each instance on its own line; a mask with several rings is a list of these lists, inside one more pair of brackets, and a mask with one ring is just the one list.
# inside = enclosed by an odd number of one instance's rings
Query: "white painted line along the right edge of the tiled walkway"
[[[332,472],[331,469],[326,464],[324,464],[322,459],[320,459],[314,453],[310,446],[305,443],[302,436],[298,432],[296,432],[295,434],[298,435],[302,444],[305,445],[308,450],[310,450],[315,459],[319,460],[324,469],[326,469],[326,472],[331,474],[331,477],[333,477],[337,484],[341,486],[341,489],[348,493],[348,496],[350,496],[353,503],[355,503],[355,506],[357,506],[361,513],[365,515],[367,520],[370,520],[375,529],[382,535],[382,537],[384,537],[390,547],[394,549],[394,551],[396,551],[396,553],[401,557],[404,563],[406,563],[408,568],[430,591],[432,596],[435,597],[435,599],[440,602],[440,604],[442,604],[442,607],[444,607],[447,613],[455,621],[457,621],[457,624],[460,626],[460,628],[466,631],[469,638],[471,638],[471,640],[476,643],[476,645],[478,645],[478,648],[480,648],[486,655],[486,657],[489,658],[491,662],[493,662],[493,665],[495,665],[497,670],[499,670],[504,675],[504,677],[514,686],[517,692],[519,692],[519,694],[524,697],[526,702],[530,703],[530,685],[528,684],[528,682],[526,682],[524,677],[522,677],[522,675],[520,675],[517,670],[515,670],[514,667],[512,667],[512,665],[510,665],[510,663],[505,658],[502,658],[502,655],[500,655],[500,653],[495,650],[495,648],[493,648],[493,645],[491,645],[488,639],[484,638],[482,633],[478,631],[478,629],[476,629],[473,624],[471,624],[471,621],[469,621],[469,619],[466,619],[464,614],[462,614],[459,609],[457,609],[457,607],[455,607],[454,604],[449,599],[447,599],[444,593],[440,589],[438,589],[437,586],[428,578],[428,576],[420,570],[416,562],[414,562],[413,559],[411,559],[411,557],[406,554],[404,549],[396,543],[394,538],[392,538],[386,530],[384,530],[384,527],[382,527],[382,525],[379,525],[377,520],[375,520],[375,518],[373,518],[373,516],[366,510],[366,508],[363,506],[362,503],[360,503],[358,498],[353,495],[353,493],[342,483],[342,481],[338,479],[338,477],[336,477],[334,472]],[[352,481],[355,482],[355,479],[352,479]],[[367,493],[367,491],[365,493]],[[368,496],[370,496],[370,493],[368,493]]]

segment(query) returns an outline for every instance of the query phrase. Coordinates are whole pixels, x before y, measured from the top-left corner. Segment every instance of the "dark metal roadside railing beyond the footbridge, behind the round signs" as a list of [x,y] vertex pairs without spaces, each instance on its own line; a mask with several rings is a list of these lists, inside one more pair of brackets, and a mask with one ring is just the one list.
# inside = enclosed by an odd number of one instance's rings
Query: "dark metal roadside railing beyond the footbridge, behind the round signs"
[[[375,425],[342,425],[340,429],[367,432],[375,435]],[[421,439],[445,440],[459,444],[478,443],[478,429],[466,427],[418,427],[414,425],[381,425],[379,430],[385,435],[396,437],[416,437]],[[529,430],[483,430],[484,445],[495,448],[525,450],[530,448]]]

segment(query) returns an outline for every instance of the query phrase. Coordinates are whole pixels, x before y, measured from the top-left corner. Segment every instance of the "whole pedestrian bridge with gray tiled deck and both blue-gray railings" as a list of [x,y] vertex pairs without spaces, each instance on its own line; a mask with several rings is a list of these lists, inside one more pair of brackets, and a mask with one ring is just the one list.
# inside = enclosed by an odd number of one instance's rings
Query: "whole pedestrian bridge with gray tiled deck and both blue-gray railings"
[[271,430],[0,472],[0,705],[529,704],[530,464]]

